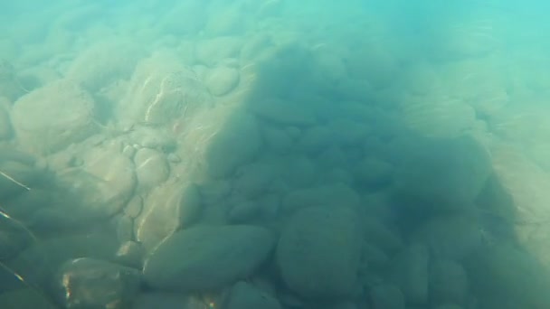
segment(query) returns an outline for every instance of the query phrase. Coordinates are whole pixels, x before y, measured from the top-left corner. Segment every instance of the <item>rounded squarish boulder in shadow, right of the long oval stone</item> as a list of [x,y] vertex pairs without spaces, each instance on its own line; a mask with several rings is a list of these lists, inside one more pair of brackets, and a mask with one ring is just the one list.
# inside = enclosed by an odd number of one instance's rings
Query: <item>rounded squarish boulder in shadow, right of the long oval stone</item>
[[283,228],[277,246],[282,279],[308,299],[345,299],[358,283],[359,221],[350,208],[331,206],[297,212]]

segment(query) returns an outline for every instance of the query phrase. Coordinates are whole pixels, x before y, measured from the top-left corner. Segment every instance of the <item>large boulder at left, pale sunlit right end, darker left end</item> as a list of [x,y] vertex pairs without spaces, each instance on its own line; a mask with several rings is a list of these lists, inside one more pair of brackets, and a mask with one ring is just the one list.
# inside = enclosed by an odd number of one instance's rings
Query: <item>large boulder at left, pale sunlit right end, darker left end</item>
[[33,229],[66,229],[97,223],[120,211],[136,186],[134,164],[119,150],[96,146],[56,171],[55,182],[34,187],[11,202],[10,211]]

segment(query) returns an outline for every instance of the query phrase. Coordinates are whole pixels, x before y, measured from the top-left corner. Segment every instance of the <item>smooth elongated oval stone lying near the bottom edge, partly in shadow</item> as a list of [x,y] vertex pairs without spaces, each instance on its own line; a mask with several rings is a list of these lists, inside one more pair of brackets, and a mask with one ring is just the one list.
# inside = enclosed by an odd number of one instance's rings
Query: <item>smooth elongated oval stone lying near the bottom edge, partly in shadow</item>
[[165,291],[205,291],[245,279],[270,255],[275,239],[255,226],[198,226],[175,232],[147,258],[146,282]]

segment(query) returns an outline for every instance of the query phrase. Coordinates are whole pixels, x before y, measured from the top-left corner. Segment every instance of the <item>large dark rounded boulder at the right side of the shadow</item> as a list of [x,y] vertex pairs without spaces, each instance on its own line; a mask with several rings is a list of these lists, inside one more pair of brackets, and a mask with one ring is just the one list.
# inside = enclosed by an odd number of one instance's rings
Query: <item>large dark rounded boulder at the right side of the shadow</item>
[[397,145],[394,196],[414,215],[469,211],[493,173],[486,149],[471,136],[418,139]]

